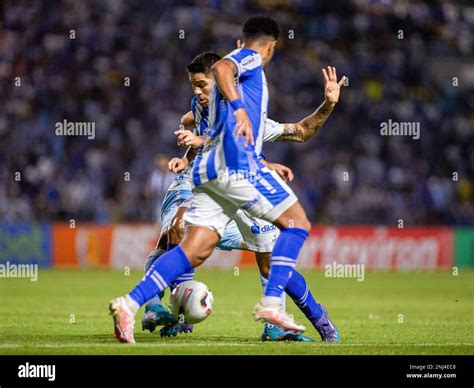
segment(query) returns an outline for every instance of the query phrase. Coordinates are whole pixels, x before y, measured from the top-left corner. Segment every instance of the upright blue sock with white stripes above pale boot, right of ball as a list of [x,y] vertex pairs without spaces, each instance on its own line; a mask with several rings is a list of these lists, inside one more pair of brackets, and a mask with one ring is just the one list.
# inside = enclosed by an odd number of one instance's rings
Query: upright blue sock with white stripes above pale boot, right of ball
[[295,268],[296,258],[308,235],[307,230],[300,228],[288,228],[281,231],[272,252],[265,296],[280,297],[285,290],[290,274]]

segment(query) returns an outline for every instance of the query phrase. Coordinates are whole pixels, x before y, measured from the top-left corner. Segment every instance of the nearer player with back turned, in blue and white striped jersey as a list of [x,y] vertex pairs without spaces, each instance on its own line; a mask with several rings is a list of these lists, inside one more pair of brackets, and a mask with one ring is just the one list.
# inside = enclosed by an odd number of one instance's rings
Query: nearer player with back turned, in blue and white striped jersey
[[[255,319],[303,332],[305,328],[281,308],[280,295],[286,291],[297,304],[304,301],[300,308],[323,333],[323,339],[338,340],[337,329],[324,306],[312,297],[309,300],[306,282],[294,269],[310,229],[306,214],[292,190],[258,157],[268,103],[263,67],[273,56],[278,34],[273,19],[252,17],[244,25],[243,48],[213,66],[216,86],[210,95],[210,131],[193,168],[196,187],[192,206],[184,216],[185,237],[178,247],[155,261],[130,294],[111,301],[115,334],[120,341],[135,342],[133,324],[139,307],[200,265],[239,208],[273,222],[281,230],[272,252],[265,294],[254,308]],[[334,69],[331,72],[334,78]]]

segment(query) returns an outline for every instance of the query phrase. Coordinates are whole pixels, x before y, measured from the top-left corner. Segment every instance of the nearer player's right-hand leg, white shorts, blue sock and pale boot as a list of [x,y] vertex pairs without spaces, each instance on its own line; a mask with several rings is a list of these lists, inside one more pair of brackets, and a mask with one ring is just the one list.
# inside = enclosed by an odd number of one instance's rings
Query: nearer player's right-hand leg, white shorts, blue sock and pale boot
[[311,226],[301,206],[295,205],[297,197],[274,171],[266,167],[250,176],[241,173],[223,176],[213,181],[213,184],[235,206],[254,217],[272,223],[277,220],[277,226],[281,228],[272,251],[268,285],[264,297],[254,308],[254,318],[287,330],[304,331],[304,326],[296,324],[282,310],[280,300]]

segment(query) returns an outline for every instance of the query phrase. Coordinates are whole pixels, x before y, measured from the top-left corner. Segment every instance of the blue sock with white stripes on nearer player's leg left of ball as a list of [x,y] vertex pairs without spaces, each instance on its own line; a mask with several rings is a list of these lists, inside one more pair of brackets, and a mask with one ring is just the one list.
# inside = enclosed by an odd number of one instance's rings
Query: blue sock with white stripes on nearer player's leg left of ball
[[181,247],[166,252],[150,267],[144,278],[130,292],[130,297],[142,306],[164,291],[180,275],[191,269],[191,264]]

